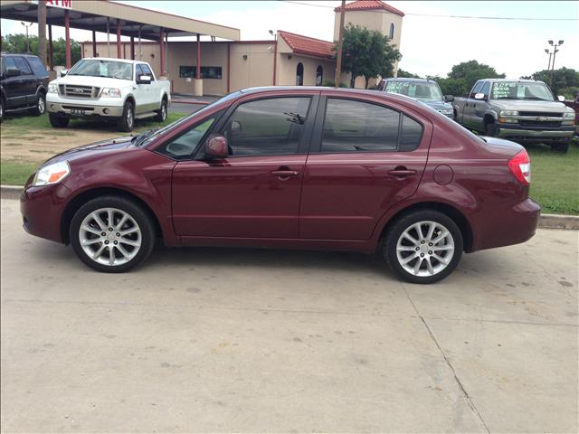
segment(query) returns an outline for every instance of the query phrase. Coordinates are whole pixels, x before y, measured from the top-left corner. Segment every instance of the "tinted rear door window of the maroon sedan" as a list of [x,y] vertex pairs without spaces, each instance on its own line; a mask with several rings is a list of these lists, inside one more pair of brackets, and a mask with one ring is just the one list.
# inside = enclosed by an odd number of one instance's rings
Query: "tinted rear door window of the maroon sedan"
[[399,125],[396,110],[351,99],[327,99],[321,151],[395,151]]

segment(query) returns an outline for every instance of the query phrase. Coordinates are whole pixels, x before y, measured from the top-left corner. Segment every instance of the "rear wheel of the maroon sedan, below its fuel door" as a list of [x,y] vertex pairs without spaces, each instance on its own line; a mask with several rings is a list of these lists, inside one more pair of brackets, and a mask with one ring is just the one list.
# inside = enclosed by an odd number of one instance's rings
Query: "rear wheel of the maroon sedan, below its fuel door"
[[412,283],[434,283],[456,268],[462,255],[462,234],[442,212],[414,211],[394,222],[382,244],[386,262]]

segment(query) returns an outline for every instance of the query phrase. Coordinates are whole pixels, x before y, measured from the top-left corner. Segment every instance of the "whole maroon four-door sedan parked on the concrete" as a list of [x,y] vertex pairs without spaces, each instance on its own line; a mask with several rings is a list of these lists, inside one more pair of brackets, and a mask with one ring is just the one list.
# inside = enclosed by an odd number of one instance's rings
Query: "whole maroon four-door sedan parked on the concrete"
[[525,149],[400,95],[241,90],[137,137],[71,149],[26,183],[24,229],[127,271],[167,246],[378,251],[432,283],[463,251],[527,241]]

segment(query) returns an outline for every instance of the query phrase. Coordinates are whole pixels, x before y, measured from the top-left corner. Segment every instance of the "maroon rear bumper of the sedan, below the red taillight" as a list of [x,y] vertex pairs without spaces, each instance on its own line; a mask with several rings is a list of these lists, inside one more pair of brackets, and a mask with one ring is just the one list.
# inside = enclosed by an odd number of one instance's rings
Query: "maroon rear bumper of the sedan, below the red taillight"
[[540,213],[541,207],[530,198],[496,212],[492,218],[480,222],[470,251],[510,246],[531,239],[535,235]]

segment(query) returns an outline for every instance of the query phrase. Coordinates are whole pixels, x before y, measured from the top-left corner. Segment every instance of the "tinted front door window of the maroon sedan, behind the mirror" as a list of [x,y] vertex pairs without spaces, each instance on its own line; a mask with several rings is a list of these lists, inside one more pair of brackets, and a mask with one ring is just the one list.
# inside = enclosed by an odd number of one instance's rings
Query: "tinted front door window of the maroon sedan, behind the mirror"
[[223,134],[231,156],[295,154],[303,136],[310,99],[271,98],[240,105]]

